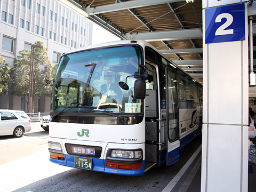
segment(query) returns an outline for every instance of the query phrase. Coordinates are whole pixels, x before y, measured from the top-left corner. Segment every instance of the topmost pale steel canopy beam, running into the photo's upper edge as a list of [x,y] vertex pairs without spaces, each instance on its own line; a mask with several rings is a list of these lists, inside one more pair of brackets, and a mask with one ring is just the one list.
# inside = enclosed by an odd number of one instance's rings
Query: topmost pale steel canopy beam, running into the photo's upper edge
[[85,9],[88,14],[100,14],[100,13],[108,13],[114,11],[121,11],[127,9],[134,9],[138,7],[151,6],[151,5],[159,5],[165,3],[175,3],[175,2],[185,2],[185,0],[136,0],[136,1],[128,1],[122,3],[113,3],[109,5],[102,5],[97,7],[87,7]]

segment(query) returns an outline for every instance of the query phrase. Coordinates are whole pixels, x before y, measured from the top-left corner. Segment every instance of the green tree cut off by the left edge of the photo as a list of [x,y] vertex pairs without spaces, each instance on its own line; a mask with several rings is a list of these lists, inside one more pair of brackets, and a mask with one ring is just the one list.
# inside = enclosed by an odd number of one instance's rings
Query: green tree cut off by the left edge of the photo
[[0,55],[0,95],[8,91],[8,82],[10,81],[10,67],[5,63],[5,59]]

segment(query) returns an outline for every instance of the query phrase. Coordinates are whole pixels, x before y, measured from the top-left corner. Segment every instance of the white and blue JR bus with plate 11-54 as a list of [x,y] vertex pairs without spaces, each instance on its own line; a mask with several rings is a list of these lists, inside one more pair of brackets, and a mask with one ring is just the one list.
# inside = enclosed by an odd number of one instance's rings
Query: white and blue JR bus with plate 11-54
[[146,41],[63,53],[51,98],[50,161],[143,175],[201,134],[202,85]]

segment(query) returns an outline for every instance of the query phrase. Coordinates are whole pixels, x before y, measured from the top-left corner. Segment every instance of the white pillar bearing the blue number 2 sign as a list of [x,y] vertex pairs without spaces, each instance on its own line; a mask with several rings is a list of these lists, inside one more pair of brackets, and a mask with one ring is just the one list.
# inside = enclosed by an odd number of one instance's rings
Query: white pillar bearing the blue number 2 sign
[[[238,21],[233,15],[237,10],[222,12],[227,3],[244,5],[244,29],[239,28],[237,32]],[[228,25],[224,27],[223,23]],[[247,3],[203,0],[203,26],[201,191],[244,192],[248,182]],[[220,26],[224,28],[218,34],[216,31]],[[235,35],[241,33],[239,30],[244,30],[244,37],[237,40]]]

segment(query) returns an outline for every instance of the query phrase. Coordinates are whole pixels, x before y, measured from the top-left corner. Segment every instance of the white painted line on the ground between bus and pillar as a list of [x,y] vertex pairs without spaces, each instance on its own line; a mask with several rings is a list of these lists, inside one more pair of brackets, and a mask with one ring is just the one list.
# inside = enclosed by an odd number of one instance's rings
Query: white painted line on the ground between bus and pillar
[[177,184],[177,182],[180,180],[182,175],[187,171],[188,167],[191,165],[191,163],[194,161],[196,156],[199,154],[199,152],[202,149],[202,145],[198,147],[198,149],[195,151],[195,153],[190,157],[188,162],[181,168],[179,173],[175,175],[175,177],[168,183],[168,185],[162,190],[162,192],[170,192],[173,187]]

